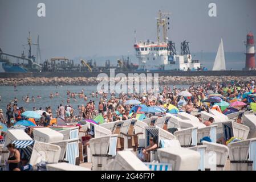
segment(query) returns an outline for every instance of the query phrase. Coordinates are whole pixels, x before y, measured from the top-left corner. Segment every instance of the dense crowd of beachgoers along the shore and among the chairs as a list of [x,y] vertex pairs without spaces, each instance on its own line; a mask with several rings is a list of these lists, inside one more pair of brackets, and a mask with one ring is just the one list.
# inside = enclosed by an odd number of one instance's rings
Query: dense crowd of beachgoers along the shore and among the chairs
[[[184,97],[179,96],[181,91],[188,91],[192,96]],[[159,89],[159,93],[153,94],[152,92],[145,92],[140,94],[107,94],[102,91],[92,92],[90,94],[90,100],[84,90],[80,93],[72,93],[67,90],[67,105],[60,104],[56,110],[52,109],[51,106],[39,110],[42,110],[42,117],[38,121],[31,120],[31,118],[25,118],[22,116],[22,113],[26,111],[25,107],[18,107],[18,99],[15,97],[13,103],[9,103],[6,106],[6,112],[0,109],[0,122],[4,123],[7,127],[11,127],[15,122],[21,121],[22,119],[28,119],[29,121],[34,122],[38,126],[48,127],[50,122],[54,118],[62,118],[64,122],[78,122],[81,119],[93,119],[99,114],[102,114],[104,122],[113,122],[118,120],[127,120],[129,118],[136,118],[136,112],[131,113],[132,105],[125,104],[128,100],[137,100],[141,104],[146,106],[161,106],[166,108],[166,111],[169,105],[176,106],[178,111],[184,111],[186,113],[194,114],[200,121],[200,111],[209,111],[212,104],[205,103],[204,100],[208,97],[210,93],[221,94],[222,100],[230,101],[234,98],[237,98],[246,103],[245,106],[239,107],[239,110],[250,110],[250,102],[255,102],[254,98],[251,98],[251,101],[247,101],[243,96],[245,93],[256,93],[255,82],[252,80],[250,82],[243,81],[234,81],[229,83],[209,83],[202,85],[190,85],[189,88],[176,88],[163,85]],[[50,98],[59,97],[59,93],[55,94],[50,93]],[[23,99],[25,102],[30,100],[29,96]],[[70,99],[76,100],[77,98],[84,100],[84,105],[78,105],[75,109],[70,104]],[[33,97],[32,97],[33,100]],[[97,106],[95,104],[97,102]],[[36,110],[34,107],[33,110]],[[148,115],[151,117],[151,115]],[[208,121],[203,123],[206,126],[212,125],[213,118],[210,117]],[[80,126],[80,125],[78,125]],[[33,138],[33,131],[30,127],[25,129],[26,133]],[[87,132],[87,131],[81,131]],[[0,139],[5,137],[6,133],[1,132]],[[87,146],[88,140],[94,136],[93,131],[90,131],[87,135],[87,139],[84,146]],[[7,146],[11,155],[8,162],[10,163],[10,168],[12,170],[18,170],[17,163],[19,163],[19,152],[15,149],[13,144]],[[149,146],[144,148],[142,155],[145,161],[148,161],[149,151],[157,148],[157,142],[155,138],[150,138]]]

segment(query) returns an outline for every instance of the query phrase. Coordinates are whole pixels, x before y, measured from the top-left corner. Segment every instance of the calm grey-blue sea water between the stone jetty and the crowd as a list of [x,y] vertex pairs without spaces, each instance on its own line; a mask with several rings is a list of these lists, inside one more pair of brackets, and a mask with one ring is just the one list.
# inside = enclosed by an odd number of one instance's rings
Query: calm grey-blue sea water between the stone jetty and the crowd
[[[170,85],[172,88],[173,85]],[[177,88],[188,88],[189,85],[176,85]],[[96,108],[99,103],[99,98],[92,98],[92,91],[96,92],[96,85],[94,86],[17,86],[18,91],[14,91],[13,86],[0,86],[0,109],[3,109],[4,113],[6,112],[6,106],[9,102],[13,102],[14,97],[18,98],[18,107],[25,107],[26,110],[32,110],[33,107],[39,109],[45,109],[47,106],[52,107],[52,112],[56,110],[59,104],[67,105],[67,90],[74,93],[80,93],[82,89],[84,90],[84,94],[87,95],[88,100],[84,101],[82,98],[76,97],[76,101],[70,98],[70,105],[72,105],[75,109],[75,114],[78,114],[78,105],[86,104],[86,102],[92,100],[95,101]],[[59,97],[50,98],[50,93],[59,93]],[[23,97],[32,96],[35,97],[35,102],[30,100],[29,103],[22,100]],[[37,96],[41,96],[41,98],[36,98]],[[110,96],[109,96],[110,97]]]

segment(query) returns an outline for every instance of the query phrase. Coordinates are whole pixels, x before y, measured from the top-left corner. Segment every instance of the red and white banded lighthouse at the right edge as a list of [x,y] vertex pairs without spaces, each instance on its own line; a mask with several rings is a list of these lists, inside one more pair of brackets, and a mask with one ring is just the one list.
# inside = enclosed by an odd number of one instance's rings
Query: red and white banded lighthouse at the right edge
[[246,41],[246,63],[245,63],[245,69],[251,70],[255,69],[255,51],[254,51],[254,38],[253,33],[247,34],[247,41]]

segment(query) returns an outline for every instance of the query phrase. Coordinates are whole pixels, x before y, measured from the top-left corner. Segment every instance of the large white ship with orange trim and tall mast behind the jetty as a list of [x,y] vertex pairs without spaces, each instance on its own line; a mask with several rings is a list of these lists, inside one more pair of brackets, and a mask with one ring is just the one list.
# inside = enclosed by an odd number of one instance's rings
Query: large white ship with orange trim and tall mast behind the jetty
[[[180,55],[176,52],[175,44],[168,40],[167,30],[169,29],[170,13],[159,11],[157,19],[157,42],[137,42],[134,45],[137,59],[139,60],[140,71],[159,70],[198,70],[201,64],[198,60],[192,60],[189,51],[189,42],[181,43]],[[160,40],[160,28],[162,27],[162,41]]]

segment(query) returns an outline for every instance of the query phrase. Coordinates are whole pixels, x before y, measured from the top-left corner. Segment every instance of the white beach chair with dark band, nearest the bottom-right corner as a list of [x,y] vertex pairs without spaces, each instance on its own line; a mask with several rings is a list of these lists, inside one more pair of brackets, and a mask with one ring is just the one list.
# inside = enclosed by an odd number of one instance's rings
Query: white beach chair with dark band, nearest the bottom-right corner
[[248,159],[250,140],[229,143],[229,158],[231,171],[251,171],[253,161]]

